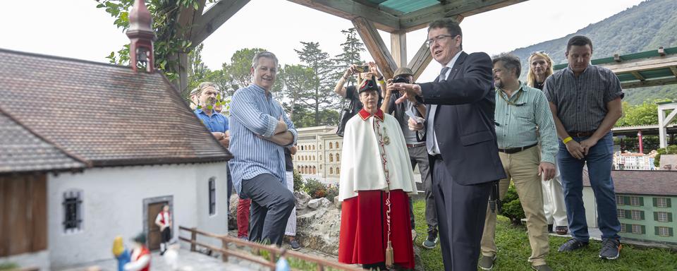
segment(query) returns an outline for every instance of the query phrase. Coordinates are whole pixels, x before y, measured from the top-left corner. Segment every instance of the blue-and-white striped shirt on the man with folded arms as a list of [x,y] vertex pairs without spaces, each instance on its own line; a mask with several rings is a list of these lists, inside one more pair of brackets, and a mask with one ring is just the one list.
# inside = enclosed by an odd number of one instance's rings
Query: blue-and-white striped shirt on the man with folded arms
[[280,117],[293,134],[295,143],[298,134],[294,124],[272,95],[265,95],[263,88],[252,84],[233,95],[230,150],[234,157],[229,165],[233,174],[233,187],[238,194],[242,191],[243,180],[260,174],[272,174],[285,183],[283,147],[257,136],[270,138]]

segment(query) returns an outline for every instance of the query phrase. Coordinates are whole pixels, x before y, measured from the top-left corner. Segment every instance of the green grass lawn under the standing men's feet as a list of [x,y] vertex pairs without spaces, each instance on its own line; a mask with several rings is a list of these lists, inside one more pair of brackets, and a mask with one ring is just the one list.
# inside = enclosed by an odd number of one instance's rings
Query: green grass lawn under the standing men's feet
[[[425,270],[444,270],[441,249],[438,245],[434,249],[421,246],[427,232],[425,224],[425,201],[415,200],[414,216],[418,237],[416,246],[419,246]],[[526,227],[515,227],[506,217],[498,217],[496,223],[496,245],[499,253],[494,270],[531,270],[527,259],[531,255]],[[642,248],[623,244],[621,257],[617,260],[602,260],[599,258],[599,249],[602,242],[591,241],[587,248],[570,253],[559,253],[557,248],[567,240],[565,237],[550,236],[550,254],[547,263],[554,270],[677,270],[677,253],[659,248]],[[621,240],[622,241],[622,240]]]

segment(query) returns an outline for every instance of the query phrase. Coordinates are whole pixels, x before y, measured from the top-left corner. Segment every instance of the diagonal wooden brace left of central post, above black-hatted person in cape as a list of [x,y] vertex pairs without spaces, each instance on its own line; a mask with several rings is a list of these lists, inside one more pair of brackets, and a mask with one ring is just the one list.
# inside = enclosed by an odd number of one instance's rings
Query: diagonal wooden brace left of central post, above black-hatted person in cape
[[369,51],[381,69],[383,76],[385,78],[393,78],[397,64],[395,64],[393,56],[388,52],[388,48],[374,24],[365,18],[358,17],[353,20],[353,25],[355,25],[355,29],[358,30],[358,34],[362,37],[362,42],[365,42],[367,51]]

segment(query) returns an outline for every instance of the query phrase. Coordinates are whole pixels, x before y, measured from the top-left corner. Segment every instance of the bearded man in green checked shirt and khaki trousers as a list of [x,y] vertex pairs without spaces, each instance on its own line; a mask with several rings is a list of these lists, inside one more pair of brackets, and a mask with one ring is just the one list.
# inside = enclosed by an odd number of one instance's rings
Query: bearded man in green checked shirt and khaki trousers
[[[541,180],[555,176],[557,135],[545,94],[519,81],[520,59],[501,54],[493,60],[496,87],[495,125],[499,157],[508,178],[499,181],[499,198],[512,180],[527,217],[534,270],[551,270],[548,255],[548,222],[543,211]],[[541,147],[537,147],[541,143]],[[482,234],[480,268],[492,270],[496,260],[496,213],[487,207]]]

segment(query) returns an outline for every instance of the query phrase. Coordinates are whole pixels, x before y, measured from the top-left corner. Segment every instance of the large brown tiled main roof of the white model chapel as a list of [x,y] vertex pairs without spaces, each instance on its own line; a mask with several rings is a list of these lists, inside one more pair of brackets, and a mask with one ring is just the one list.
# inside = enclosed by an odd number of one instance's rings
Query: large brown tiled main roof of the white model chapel
[[0,49],[0,109],[97,166],[232,157],[161,73]]

